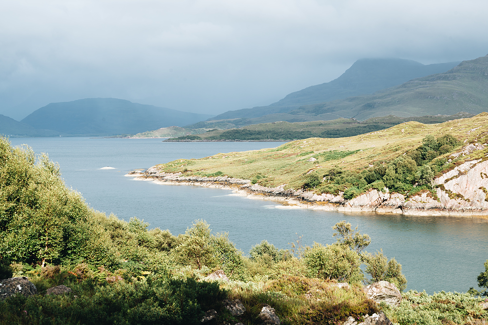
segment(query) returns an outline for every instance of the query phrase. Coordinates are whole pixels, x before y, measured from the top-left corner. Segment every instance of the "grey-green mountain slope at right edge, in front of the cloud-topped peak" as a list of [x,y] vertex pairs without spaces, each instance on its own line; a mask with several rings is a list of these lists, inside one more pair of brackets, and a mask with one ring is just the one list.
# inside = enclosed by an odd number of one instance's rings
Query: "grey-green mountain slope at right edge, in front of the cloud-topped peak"
[[488,110],[488,55],[461,62],[453,69],[416,78],[400,86],[320,104],[302,106],[290,116],[324,119],[334,115],[365,120],[374,116],[452,115]]

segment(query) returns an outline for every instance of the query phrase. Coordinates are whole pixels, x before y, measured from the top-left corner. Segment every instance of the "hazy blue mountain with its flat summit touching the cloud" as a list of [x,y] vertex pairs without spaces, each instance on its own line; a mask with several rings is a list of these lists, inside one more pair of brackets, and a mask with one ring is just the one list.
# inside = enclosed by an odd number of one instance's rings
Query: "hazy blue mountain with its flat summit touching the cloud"
[[291,93],[269,106],[228,111],[210,120],[256,118],[291,112],[302,105],[316,104],[350,96],[372,94],[400,85],[408,80],[446,72],[459,62],[424,65],[400,58],[364,58],[356,61],[344,74],[330,82]]

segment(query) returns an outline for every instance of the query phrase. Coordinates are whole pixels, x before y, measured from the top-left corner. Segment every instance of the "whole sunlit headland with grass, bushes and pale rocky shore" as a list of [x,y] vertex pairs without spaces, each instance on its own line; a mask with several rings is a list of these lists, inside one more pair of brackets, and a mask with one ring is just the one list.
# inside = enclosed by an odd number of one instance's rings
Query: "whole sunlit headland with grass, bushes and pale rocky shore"
[[221,183],[293,205],[318,202],[325,210],[487,215],[487,116],[179,159],[141,175]]

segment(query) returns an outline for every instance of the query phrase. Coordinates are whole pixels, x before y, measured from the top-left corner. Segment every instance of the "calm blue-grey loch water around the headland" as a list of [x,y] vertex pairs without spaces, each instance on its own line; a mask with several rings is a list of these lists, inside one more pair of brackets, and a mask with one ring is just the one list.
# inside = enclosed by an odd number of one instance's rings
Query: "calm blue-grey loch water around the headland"
[[[407,290],[466,292],[488,259],[488,219],[420,217],[374,213],[339,213],[298,209],[238,196],[229,190],[188,185],[159,185],[124,175],[179,158],[277,147],[284,142],[162,142],[161,139],[87,137],[11,138],[35,153],[48,153],[60,164],[68,187],[81,192],[95,210],[129,220],[138,217],[149,228],[184,233],[204,219],[213,232],[228,232],[237,248],[248,253],[262,240],[280,249],[302,237],[303,245],[332,244],[332,226],[346,220],[371,237],[366,249],[383,249],[402,264]],[[112,167],[113,169],[102,169]]]

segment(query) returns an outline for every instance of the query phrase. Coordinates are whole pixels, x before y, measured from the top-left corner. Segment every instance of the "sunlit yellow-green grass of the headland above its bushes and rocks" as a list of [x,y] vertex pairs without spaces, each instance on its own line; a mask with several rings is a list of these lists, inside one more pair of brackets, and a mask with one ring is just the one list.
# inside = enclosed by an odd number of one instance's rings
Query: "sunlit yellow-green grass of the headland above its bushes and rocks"
[[[287,184],[287,188],[300,188],[304,175],[310,170],[321,173],[333,166],[341,166],[359,171],[376,161],[390,161],[417,148],[427,134],[437,137],[450,133],[461,141],[484,143],[488,134],[487,117],[488,113],[482,113],[472,118],[431,125],[412,121],[369,134],[335,139],[309,138],[275,149],[217,153],[201,159],[180,159],[158,166],[165,172],[205,175],[220,171],[243,179],[252,179],[261,173],[266,176],[260,179],[261,185],[274,187]],[[345,158],[333,159],[341,153],[356,150],[359,151]],[[317,160],[308,162],[310,157]]]

